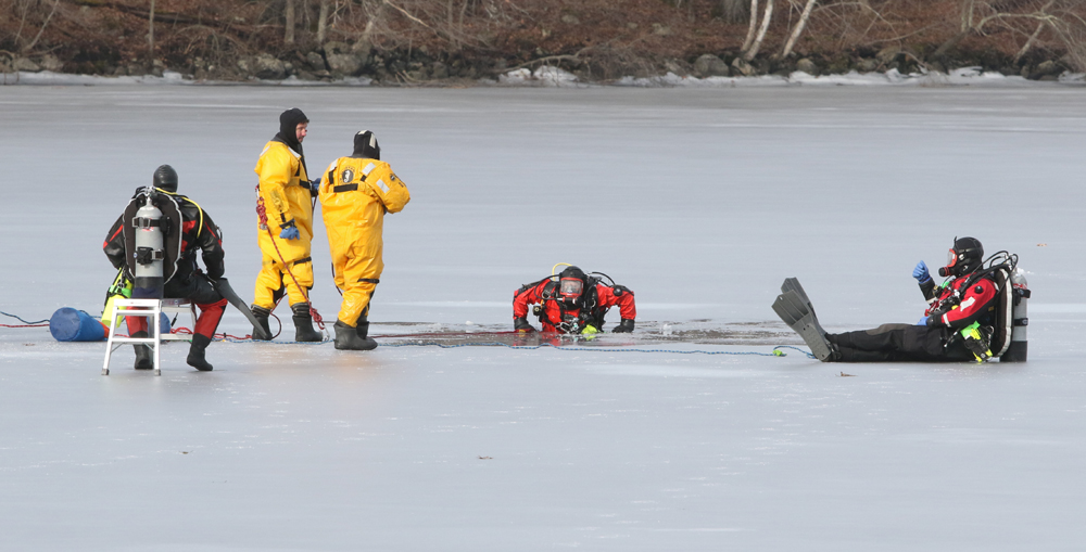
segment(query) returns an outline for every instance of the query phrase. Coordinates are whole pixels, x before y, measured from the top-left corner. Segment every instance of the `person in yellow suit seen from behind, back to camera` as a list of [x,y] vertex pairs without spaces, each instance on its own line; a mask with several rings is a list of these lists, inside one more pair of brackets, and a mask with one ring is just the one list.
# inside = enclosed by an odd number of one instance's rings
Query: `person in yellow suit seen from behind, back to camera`
[[354,153],[332,162],[319,185],[320,210],[343,305],[336,321],[336,348],[371,350],[369,301],[384,262],[381,239],[386,213],[400,213],[411,201],[407,187],[381,159],[374,133],[354,136]]

